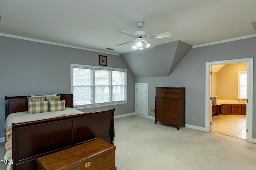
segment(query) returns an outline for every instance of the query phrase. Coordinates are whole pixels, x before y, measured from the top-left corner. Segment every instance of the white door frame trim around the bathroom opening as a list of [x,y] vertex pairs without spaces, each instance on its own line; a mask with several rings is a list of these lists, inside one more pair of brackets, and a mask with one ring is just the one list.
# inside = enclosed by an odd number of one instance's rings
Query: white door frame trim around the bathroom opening
[[252,142],[252,82],[253,82],[253,59],[235,59],[227,61],[216,61],[206,63],[206,131],[212,130],[212,99],[211,97],[211,80],[212,75],[210,70],[213,65],[218,64],[234,64],[246,63],[247,64],[247,99],[246,99],[246,135],[249,142]]

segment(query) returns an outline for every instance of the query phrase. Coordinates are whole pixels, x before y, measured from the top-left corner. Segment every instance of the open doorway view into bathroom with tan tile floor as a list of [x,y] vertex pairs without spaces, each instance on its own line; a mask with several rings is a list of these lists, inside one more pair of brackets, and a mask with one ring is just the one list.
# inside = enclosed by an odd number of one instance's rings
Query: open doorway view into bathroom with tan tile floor
[[212,65],[212,132],[246,138],[247,63]]

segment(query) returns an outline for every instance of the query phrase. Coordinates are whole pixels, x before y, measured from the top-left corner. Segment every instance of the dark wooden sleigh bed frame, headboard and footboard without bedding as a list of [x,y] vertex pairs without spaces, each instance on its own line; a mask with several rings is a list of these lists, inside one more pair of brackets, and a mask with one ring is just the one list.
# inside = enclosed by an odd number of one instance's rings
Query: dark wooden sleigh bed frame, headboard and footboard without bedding
[[[66,107],[73,108],[72,94],[58,95],[61,100],[66,100]],[[6,97],[5,105],[6,117],[28,111],[27,96]],[[114,111],[109,109],[12,123],[12,169],[35,170],[37,158],[98,138],[113,144]]]

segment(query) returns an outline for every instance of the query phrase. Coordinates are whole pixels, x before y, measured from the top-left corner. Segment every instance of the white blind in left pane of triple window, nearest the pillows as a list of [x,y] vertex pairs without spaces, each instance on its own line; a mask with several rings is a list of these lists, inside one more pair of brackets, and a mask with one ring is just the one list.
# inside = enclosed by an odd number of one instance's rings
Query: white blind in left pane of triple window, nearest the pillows
[[74,106],[92,104],[92,68],[73,68]]

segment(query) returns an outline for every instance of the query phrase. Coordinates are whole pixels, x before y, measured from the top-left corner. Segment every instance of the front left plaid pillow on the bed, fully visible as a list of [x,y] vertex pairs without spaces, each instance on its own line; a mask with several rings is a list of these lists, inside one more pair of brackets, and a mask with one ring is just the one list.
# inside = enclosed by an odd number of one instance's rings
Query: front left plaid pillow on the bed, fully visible
[[28,113],[42,113],[48,111],[48,102],[28,102]]

